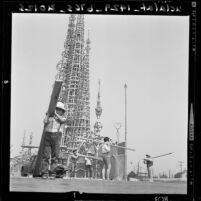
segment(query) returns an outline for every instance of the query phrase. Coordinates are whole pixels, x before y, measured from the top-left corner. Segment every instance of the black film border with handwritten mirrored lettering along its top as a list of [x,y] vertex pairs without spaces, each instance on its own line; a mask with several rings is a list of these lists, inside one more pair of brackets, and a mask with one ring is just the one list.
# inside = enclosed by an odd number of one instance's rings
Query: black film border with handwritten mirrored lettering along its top
[[[197,70],[197,0],[190,1],[52,1],[52,2],[41,2],[41,1],[4,1],[3,2],[3,57],[2,57],[2,92],[3,92],[3,114],[1,115],[3,127],[2,133],[10,133],[10,114],[5,113],[5,109],[10,108],[10,90],[11,90],[11,30],[12,30],[12,13],[61,13],[61,14],[104,14],[104,15],[166,15],[166,16],[189,16],[190,17],[190,36],[189,36],[189,94],[188,94],[188,178],[187,178],[187,195],[171,195],[171,194],[130,194],[121,195],[115,197],[115,200],[191,200],[196,197],[201,197],[198,189],[195,187],[195,123],[197,114],[197,93],[198,86],[197,80],[200,78]],[[8,68],[9,66],[10,68]],[[200,75],[200,74],[199,74]],[[195,120],[194,120],[195,119]],[[1,135],[1,144],[3,151],[5,152],[3,160],[9,164],[9,150],[10,138]],[[196,144],[197,146],[198,144]],[[2,168],[3,169],[3,168]],[[41,195],[41,193],[9,193],[9,177],[3,175],[4,183],[3,190],[5,191],[6,197],[19,197],[26,200],[32,196],[37,199],[38,195],[40,198],[51,198],[52,194]],[[197,184],[197,183],[196,183]],[[78,192],[69,192],[59,195],[59,200],[66,200],[66,198],[76,199],[97,199],[99,200],[113,200],[114,195],[104,194],[79,194]],[[21,197],[22,196],[22,197]],[[58,195],[57,195],[58,196]]]

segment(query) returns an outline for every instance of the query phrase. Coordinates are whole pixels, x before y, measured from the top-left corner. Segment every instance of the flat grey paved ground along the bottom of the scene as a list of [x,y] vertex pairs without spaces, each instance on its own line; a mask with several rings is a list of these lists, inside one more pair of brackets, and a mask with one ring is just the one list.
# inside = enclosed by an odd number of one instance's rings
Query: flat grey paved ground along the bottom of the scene
[[186,194],[186,182],[104,181],[11,177],[10,191],[112,194]]

